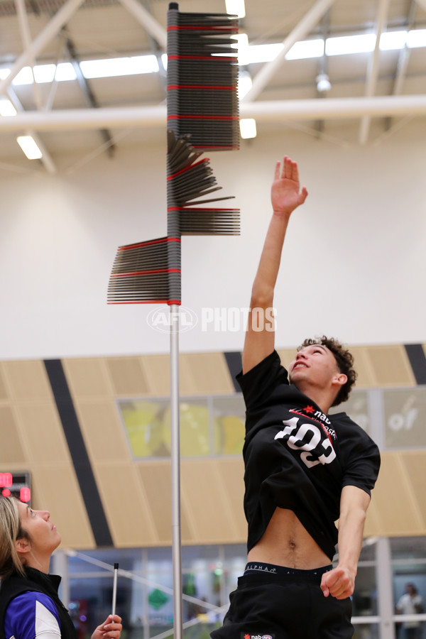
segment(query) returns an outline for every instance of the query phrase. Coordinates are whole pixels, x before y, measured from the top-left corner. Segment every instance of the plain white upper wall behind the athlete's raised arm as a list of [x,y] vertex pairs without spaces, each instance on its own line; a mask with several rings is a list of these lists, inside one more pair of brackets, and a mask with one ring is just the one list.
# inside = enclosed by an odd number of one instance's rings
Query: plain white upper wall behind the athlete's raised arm
[[[279,347],[306,335],[349,344],[426,341],[426,125],[342,148],[294,131],[212,153],[241,208],[241,236],[182,239],[182,305],[246,307],[270,216],[275,159],[310,195],[290,221],[278,280]],[[152,305],[108,306],[117,246],[166,234],[165,146],[119,147],[71,175],[0,173],[0,359],[168,351]],[[244,330],[180,336],[181,351],[239,350]]]

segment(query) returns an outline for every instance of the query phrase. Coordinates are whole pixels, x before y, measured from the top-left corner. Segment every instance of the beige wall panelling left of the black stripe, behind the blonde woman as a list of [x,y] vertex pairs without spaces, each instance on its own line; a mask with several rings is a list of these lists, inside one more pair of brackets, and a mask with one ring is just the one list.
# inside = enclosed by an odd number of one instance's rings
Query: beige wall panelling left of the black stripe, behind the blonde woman
[[2,373],[11,403],[0,406],[1,427],[11,429],[7,446],[2,447],[3,464],[8,470],[31,473],[33,507],[55,513],[52,520],[66,547],[94,547],[43,362],[4,362]]

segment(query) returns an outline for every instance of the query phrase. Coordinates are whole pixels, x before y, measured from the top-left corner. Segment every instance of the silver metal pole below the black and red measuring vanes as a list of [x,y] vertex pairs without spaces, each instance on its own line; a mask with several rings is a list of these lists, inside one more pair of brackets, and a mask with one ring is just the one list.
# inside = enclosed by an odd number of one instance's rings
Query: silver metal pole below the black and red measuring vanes
[[170,416],[172,459],[173,626],[182,639],[182,553],[180,539],[179,306],[170,305]]

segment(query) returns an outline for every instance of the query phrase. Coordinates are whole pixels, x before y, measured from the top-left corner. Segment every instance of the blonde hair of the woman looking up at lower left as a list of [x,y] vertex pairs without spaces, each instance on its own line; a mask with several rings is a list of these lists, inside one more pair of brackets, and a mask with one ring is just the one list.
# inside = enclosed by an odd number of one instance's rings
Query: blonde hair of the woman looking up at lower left
[[18,501],[14,497],[0,497],[0,579],[13,572],[24,574],[23,564],[16,551],[15,542],[28,533],[21,528]]

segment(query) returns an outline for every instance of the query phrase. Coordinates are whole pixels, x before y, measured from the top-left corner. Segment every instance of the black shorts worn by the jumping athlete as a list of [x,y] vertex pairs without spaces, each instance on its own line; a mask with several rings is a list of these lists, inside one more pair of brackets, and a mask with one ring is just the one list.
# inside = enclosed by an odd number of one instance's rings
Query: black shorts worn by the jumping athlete
[[[253,566],[247,564],[247,567]],[[239,577],[222,628],[212,639],[351,639],[351,599],[324,597],[322,575],[332,567],[296,570],[263,564]]]

